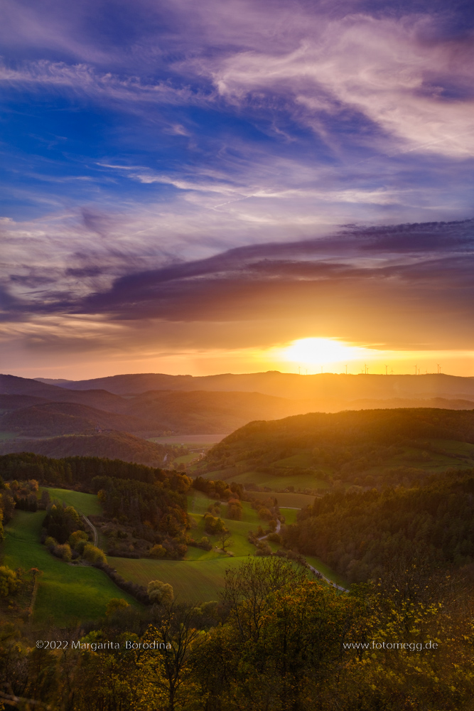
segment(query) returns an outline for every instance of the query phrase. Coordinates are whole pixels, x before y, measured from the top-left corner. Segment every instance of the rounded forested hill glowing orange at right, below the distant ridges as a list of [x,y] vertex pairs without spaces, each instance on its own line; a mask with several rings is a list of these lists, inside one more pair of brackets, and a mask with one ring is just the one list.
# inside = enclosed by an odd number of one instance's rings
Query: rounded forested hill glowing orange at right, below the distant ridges
[[[422,481],[431,471],[474,464],[474,411],[362,410],[251,422],[215,445],[200,473],[306,476],[331,486]],[[239,481],[236,479],[236,481]]]

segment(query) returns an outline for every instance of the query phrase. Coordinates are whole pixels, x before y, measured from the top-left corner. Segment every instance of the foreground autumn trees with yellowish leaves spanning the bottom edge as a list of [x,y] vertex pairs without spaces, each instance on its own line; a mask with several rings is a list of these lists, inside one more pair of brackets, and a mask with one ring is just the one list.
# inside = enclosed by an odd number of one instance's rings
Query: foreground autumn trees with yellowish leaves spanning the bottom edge
[[285,560],[254,558],[227,572],[219,602],[110,604],[98,621],[35,636],[68,642],[60,652],[5,622],[2,700],[55,711],[469,711],[472,617],[466,584],[423,565],[392,565],[379,584],[338,595]]

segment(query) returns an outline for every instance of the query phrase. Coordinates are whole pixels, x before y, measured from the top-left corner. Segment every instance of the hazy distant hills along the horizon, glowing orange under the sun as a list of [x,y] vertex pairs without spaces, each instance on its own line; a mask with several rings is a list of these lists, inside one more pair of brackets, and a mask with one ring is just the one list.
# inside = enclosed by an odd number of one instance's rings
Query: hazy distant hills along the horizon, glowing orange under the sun
[[[45,380],[0,375],[2,451],[28,446],[38,454],[65,456],[82,454],[87,442],[87,454],[144,463],[155,458],[156,452],[146,449],[146,454],[137,455],[136,441],[148,446],[153,443],[146,438],[163,434],[230,434],[252,421],[274,421],[308,412],[399,407],[474,410],[474,378],[451,375],[269,371],[196,378],[137,373],[77,382]],[[102,434],[104,437],[98,437]],[[43,444],[34,439],[40,437]],[[54,454],[56,451],[62,454]],[[141,459],[134,459],[136,456]]]

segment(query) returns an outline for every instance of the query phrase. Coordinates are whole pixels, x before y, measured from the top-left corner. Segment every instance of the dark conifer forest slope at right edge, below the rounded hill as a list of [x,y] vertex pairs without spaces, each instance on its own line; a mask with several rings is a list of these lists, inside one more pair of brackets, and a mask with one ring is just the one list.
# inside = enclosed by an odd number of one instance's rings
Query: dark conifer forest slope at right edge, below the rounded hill
[[390,560],[420,550],[433,567],[474,561],[474,470],[431,476],[425,486],[338,491],[316,498],[284,533],[350,582],[376,577]]

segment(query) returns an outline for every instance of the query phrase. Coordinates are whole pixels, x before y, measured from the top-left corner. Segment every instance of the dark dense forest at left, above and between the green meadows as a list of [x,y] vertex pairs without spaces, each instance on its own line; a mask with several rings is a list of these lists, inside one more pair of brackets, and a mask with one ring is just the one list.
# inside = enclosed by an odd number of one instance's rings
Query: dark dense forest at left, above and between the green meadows
[[[191,480],[178,471],[119,459],[48,459],[23,452],[0,456],[0,476],[10,482],[8,489],[0,491],[5,520],[11,518],[15,506],[36,510],[36,491],[29,491],[29,483],[34,482],[36,490],[38,483],[65,486],[99,495],[104,515],[93,518],[108,532],[109,555],[140,557],[153,545],[163,547],[163,557],[185,555],[189,528],[185,493]],[[47,505],[43,503],[43,508]],[[132,541],[133,552],[129,550]]]

